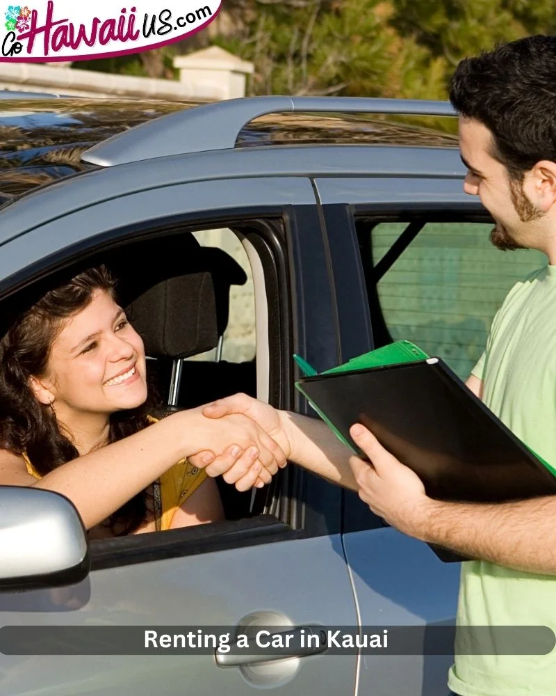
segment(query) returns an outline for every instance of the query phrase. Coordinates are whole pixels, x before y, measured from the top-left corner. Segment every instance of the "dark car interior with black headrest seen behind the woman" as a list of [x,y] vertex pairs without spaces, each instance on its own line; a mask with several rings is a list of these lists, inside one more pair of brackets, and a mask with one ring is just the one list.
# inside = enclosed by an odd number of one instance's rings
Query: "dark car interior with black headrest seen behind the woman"
[[[247,281],[231,255],[182,232],[135,242],[105,263],[119,280],[122,306],[145,342],[149,381],[163,411],[194,408],[239,391],[257,396],[256,358],[221,358],[231,288]],[[208,351],[215,353],[211,360],[188,359]],[[220,477],[217,483],[226,519],[254,514],[252,491],[240,493]]]

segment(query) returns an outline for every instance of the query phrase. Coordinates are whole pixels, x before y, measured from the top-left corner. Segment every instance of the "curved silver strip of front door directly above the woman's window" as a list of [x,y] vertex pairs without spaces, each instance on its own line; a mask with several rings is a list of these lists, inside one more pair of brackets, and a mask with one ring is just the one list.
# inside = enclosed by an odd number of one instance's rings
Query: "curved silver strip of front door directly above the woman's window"
[[[121,191],[124,178],[122,173],[120,178],[116,177],[113,191]],[[138,229],[145,230],[149,225],[177,224],[183,216],[195,216],[196,212],[201,216],[205,214],[206,218],[210,211],[217,219],[219,209],[245,211],[293,203],[309,205],[315,200],[309,180],[297,177],[238,178],[174,185],[152,182],[152,186],[152,190],[113,196],[65,214],[60,211],[54,220],[27,230],[14,230],[13,237],[6,240],[0,254],[0,292],[11,287],[14,274],[46,260],[54,262],[70,247],[76,252],[78,249],[84,252],[101,242],[121,241],[125,235],[115,232],[119,228],[129,228],[131,234],[137,233]],[[28,212],[33,215],[36,210],[33,196],[15,205],[21,208],[22,219]],[[7,210],[5,214],[8,215]]]

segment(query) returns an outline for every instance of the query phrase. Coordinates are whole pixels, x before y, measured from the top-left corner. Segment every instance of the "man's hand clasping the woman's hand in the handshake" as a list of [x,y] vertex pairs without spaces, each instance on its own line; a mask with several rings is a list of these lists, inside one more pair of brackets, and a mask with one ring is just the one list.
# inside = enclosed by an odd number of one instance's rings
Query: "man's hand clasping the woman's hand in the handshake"
[[[272,441],[277,444],[277,450],[280,453],[280,456],[276,457],[278,466],[280,468],[286,466],[286,459],[291,454],[291,444],[280,411],[246,394],[235,394],[220,399],[203,409],[203,416],[206,418],[218,419],[233,414],[241,414],[254,420],[256,425],[269,436],[268,441],[265,441],[267,447],[270,447]],[[195,466],[204,466],[206,473],[211,477],[222,475],[224,481],[234,484],[239,491],[246,491],[253,486],[263,487],[277,472],[275,465],[261,466],[254,450],[227,448],[220,456],[213,457],[211,464],[207,466],[204,459],[208,456],[210,454],[206,451],[197,452],[193,457],[189,457],[189,461]],[[263,464],[265,464],[264,461]]]

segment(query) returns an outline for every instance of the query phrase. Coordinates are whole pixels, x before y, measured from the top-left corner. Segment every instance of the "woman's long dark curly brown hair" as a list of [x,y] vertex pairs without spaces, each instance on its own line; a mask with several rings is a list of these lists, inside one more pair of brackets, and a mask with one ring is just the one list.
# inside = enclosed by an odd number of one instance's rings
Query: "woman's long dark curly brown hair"
[[[0,340],[0,448],[19,455],[25,452],[40,475],[76,459],[79,452],[58,426],[53,411],[35,397],[30,378],[45,374],[63,320],[87,307],[95,290],[104,290],[116,299],[115,281],[104,266],[83,271],[49,290]],[[145,404],[111,414],[108,443],[147,427],[147,414],[158,411],[154,402],[156,397],[149,388]],[[142,491],[110,517],[110,528],[117,536],[129,534],[146,514],[147,494]]]

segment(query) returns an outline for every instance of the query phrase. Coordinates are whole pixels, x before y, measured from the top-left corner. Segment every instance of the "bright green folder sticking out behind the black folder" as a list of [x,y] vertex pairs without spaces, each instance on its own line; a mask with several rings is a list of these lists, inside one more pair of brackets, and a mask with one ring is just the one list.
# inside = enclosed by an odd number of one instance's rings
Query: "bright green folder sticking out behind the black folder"
[[[377,348],[376,350],[370,351],[370,353],[365,353],[363,355],[357,356],[357,358],[352,358],[347,363],[343,365],[338,365],[337,367],[332,367],[331,370],[325,370],[324,372],[317,372],[309,363],[307,363],[303,358],[298,355],[294,355],[293,359],[295,363],[300,367],[305,377],[316,377],[318,374],[336,374],[338,372],[353,372],[354,370],[369,370],[373,367],[384,367],[385,365],[399,365],[400,363],[413,363],[416,361],[427,360],[429,358],[425,351],[421,350],[418,346],[414,345],[410,341],[396,341],[389,345],[383,346],[382,348]],[[353,443],[348,441],[341,432],[336,429],[334,423],[329,420],[327,415],[323,413],[319,407],[309,398],[304,392],[303,385],[300,382],[295,383],[295,388],[299,390],[306,400],[313,406],[313,409],[318,413],[320,418],[325,421],[327,426],[334,432],[336,437],[343,442],[347,447],[357,454]],[[548,464],[542,457],[539,457],[537,452],[534,452],[526,443],[523,443],[525,447],[537,457],[539,461],[556,476],[556,468],[552,464]]]

